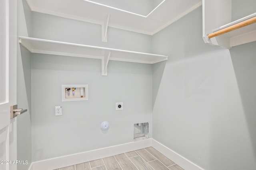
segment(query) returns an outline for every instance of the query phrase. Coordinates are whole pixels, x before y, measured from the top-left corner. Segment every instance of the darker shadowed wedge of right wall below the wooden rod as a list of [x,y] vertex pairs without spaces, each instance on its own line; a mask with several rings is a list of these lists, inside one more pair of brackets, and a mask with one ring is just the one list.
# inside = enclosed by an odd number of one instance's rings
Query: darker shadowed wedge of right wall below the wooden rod
[[236,80],[243,104],[246,124],[250,133],[254,158],[256,159],[256,42],[230,49]]

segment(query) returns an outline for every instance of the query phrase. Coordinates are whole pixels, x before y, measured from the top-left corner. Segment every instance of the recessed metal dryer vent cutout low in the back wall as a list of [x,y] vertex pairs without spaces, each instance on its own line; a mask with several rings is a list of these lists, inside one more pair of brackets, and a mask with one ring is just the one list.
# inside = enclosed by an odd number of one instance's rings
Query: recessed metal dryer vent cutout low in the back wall
[[143,139],[148,139],[148,122],[147,123],[136,123],[134,124],[134,141],[140,141]]

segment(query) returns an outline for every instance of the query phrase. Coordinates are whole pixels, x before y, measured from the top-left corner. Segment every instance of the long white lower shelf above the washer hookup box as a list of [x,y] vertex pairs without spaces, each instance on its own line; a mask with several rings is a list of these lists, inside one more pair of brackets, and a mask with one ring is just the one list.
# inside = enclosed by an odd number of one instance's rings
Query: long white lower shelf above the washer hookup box
[[31,53],[65,55],[92,59],[103,59],[104,57],[109,57],[109,60],[114,61],[126,61],[146,64],[154,64],[167,60],[167,56],[165,55],[141,53],[136,51],[126,51],[120,49],[66,43],[61,41],[52,41],[31,37],[19,37],[19,40],[20,44],[28,49],[28,51],[30,51]]

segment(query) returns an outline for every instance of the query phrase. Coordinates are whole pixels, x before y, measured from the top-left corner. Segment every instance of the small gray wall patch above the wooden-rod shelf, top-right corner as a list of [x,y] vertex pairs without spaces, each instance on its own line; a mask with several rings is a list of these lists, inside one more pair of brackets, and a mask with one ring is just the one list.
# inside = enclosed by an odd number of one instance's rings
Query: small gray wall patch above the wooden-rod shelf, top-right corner
[[256,12],[255,0],[232,0],[231,1],[231,15],[232,21],[246,17]]

